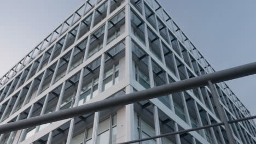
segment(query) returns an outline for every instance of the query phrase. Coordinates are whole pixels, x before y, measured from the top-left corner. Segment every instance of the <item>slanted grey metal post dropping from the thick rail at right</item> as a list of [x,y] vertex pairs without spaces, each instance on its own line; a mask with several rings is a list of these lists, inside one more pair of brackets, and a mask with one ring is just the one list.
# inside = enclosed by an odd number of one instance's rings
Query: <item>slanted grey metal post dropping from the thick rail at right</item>
[[234,139],[234,136],[232,134],[232,131],[231,131],[231,127],[228,123],[228,118],[226,117],[226,115],[224,113],[223,107],[219,103],[219,99],[217,97],[217,93],[214,89],[213,83],[211,81],[208,81],[208,85],[209,85],[211,93],[212,93],[212,98],[213,98],[214,104],[217,107],[217,111],[219,113],[220,120],[222,122],[224,122],[224,126],[225,126],[225,129],[226,129],[226,135],[228,136],[229,143],[236,143],[236,141]]

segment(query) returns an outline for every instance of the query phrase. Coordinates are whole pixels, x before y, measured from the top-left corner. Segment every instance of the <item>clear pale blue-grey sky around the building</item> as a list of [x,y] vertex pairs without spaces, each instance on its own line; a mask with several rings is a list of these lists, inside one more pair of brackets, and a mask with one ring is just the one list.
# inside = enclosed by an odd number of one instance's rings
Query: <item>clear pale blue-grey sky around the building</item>
[[[0,76],[84,1],[0,0]],[[256,1],[159,0],[216,70],[255,62]],[[228,81],[256,115],[256,75]]]

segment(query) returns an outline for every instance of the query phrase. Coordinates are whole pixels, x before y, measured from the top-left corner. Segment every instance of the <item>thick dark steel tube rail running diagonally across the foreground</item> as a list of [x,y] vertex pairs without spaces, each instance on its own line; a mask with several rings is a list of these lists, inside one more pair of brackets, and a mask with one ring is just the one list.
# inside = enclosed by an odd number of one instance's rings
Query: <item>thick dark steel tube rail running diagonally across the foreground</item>
[[211,74],[193,77],[191,79],[169,83],[167,85],[145,89],[143,91],[126,94],[120,97],[105,99],[97,101],[95,103],[48,113],[42,116],[22,119],[20,121],[3,124],[0,125],[0,134],[8,133],[10,131],[15,131],[19,129],[30,128],[45,123],[60,121],[67,118],[78,117],[88,113],[106,110],[115,106],[123,106],[136,103],[138,101],[161,97],[167,94],[187,91],[188,89],[192,89],[195,87],[207,86],[208,81],[211,81],[212,83],[218,83],[253,74],[256,74],[256,62],[217,71]]

